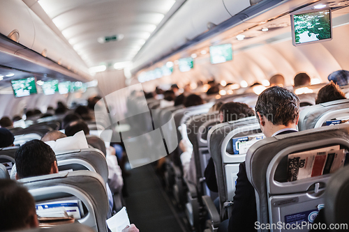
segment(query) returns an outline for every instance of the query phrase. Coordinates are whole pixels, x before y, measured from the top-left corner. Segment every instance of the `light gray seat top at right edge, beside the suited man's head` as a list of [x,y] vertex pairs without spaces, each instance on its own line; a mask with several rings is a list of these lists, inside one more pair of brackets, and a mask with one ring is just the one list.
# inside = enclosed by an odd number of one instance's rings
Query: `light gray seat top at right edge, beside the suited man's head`
[[335,100],[304,108],[299,113],[298,129],[309,130],[349,119],[349,99]]

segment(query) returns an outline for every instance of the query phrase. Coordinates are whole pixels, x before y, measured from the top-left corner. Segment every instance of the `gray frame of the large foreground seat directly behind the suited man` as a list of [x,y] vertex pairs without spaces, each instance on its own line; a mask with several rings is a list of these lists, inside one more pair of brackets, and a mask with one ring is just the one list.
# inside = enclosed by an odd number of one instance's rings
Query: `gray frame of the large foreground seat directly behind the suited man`
[[[258,222],[261,224],[269,223],[269,196],[280,193],[296,194],[299,192],[312,194],[311,191],[313,190],[309,188],[312,184],[318,183],[319,180],[321,183],[328,183],[331,174],[297,180],[297,183],[285,182],[287,180],[287,155],[301,150],[313,150],[336,144],[340,144],[347,149],[349,148],[349,125],[334,125],[303,132],[282,134],[253,144],[246,155],[246,173],[248,180],[255,188]],[[277,163],[277,168],[271,167],[272,160],[274,164],[276,161],[279,162]],[[274,170],[274,173],[272,173],[274,178],[267,177],[269,176],[267,173],[271,173],[268,170]],[[320,187],[322,187],[322,184]]]

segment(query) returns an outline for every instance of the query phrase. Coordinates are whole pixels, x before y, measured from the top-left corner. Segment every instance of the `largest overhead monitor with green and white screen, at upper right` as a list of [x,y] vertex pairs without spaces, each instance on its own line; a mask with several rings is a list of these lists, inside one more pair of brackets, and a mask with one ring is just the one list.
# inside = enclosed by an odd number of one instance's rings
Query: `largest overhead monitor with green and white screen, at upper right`
[[292,15],[293,45],[332,40],[331,10],[318,10]]

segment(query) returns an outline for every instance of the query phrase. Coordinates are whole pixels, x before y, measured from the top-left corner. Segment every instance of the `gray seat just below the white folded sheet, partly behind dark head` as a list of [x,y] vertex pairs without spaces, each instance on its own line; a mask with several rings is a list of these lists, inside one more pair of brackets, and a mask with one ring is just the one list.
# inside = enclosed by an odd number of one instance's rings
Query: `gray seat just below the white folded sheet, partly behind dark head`
[[[105,155],[96,148],[83,148],[80,150],[64,151],[56,153],[57,166],[59,171],[80,171],[89,170],[98,173],[107,183],[108,169]],[[12,167],[10,178],[15,179],[17,169],[15,164]]]

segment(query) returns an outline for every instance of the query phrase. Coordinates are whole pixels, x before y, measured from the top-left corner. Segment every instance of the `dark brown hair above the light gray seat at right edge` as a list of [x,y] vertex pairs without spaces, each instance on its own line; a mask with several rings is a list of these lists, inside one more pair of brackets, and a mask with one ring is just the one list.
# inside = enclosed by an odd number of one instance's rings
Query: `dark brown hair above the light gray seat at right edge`
[[315,100],[315,104],[321,104],[325,102],[331,102],[334,100],[346,99],[346,95],[339,89],[334,82],[323,86],[318,91],[318,98]]

